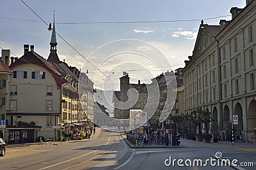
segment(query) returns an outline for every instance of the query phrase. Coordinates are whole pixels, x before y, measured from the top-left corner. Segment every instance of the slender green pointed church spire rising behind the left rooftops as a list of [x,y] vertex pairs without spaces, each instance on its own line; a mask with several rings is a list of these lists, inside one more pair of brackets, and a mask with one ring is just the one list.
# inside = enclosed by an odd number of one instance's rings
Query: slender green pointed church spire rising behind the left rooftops
[[50,55],[47,60],[54,62],[56,64],[60,64],[60,59],[57,54],[57,40],[56,40],[56,31],[55,31],[55,12],[53,14],[53,27],[52,27],[52,36],[51,36],[51,49],[50,49]]

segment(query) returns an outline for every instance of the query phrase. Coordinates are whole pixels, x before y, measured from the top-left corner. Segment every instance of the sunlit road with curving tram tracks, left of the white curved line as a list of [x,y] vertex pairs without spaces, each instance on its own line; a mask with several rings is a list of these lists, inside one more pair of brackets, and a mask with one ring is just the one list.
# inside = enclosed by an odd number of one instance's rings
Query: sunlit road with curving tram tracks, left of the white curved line
[[98,138],[85,141],[7,148],[0,169],[88,169],[116,157],[123,148],[120,138],[117,132],[102,130]]

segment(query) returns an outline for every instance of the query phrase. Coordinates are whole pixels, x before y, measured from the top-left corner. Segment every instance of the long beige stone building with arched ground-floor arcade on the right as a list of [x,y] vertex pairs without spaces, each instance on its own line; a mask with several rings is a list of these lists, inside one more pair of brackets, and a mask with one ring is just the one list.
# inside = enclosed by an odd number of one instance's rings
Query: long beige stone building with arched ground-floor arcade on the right
[[185,111],[209,110],[222,129],[238,116],[237,138],[254,136],[256,127],[256,1],[231,8],[232,20],[202,22],[193,55],[183,69]]

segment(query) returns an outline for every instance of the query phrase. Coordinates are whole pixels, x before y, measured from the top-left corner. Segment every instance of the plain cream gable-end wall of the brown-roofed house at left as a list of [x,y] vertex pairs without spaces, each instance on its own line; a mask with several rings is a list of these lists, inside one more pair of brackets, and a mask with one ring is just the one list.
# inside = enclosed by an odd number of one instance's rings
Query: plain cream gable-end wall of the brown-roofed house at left
[[[12,71],[27,71],[28,74],[27,78],[13,78],[13,76],[10,78],[10,91],[15,86],[17,87],[17,94],[10,93],[8,97],[7,110],[15,114],[14,116],[8,115],[6,117],[9,125],[11,125],[11,117],[15,120],[13,121],[13,125],[17,125],[19,121],[27,123],[33,121],[35,125],[42,126],[38,132],[38,136],[44,136],[47,139],[56,135],[57,130],[52,129],[52,126],[58,125],[58,116],[55,117],[52,114],[60,114],[61,90],[58,89],[52,74],[43,67],[36,66],[35,64],[22,64],[13,67]],[[45,79],[31,79],[32,71],[45,72]],[[52,96],[47,95],[47,87],[52,87]],[[12,107],[13,101],[17,103],[16,109]],[[50,101],[50,103],[47,103],[47,101]]]

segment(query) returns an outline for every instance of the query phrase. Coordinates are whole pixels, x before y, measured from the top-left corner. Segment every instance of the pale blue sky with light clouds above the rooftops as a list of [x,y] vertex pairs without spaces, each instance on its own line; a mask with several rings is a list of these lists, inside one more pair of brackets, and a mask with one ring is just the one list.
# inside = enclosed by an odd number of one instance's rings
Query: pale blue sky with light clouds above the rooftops
[[1,0],[0,47],[21,57],[24,44],[35,45],[35,52],[47,59],[51,40],[47,24],[55,13],[60,60],[88,70],[94,87],[104,90],[118,89],[124,71],[133,83],[150,83],[161,73],[184,67],[201,20],[219,25],[220,19],[231,20],[230,8],[246,4],[246,0],[22,1]]

